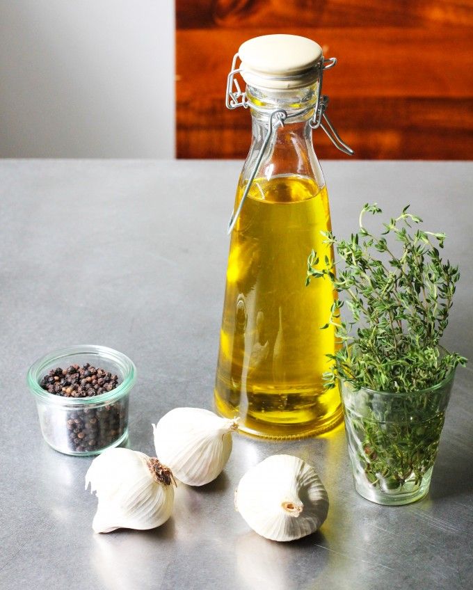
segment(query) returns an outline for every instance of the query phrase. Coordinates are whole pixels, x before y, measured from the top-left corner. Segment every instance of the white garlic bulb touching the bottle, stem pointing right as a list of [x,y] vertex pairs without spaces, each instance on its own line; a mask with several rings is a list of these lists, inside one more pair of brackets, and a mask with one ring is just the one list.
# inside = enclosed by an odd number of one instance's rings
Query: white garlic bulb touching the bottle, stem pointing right
[[154,425],[154,447],[177,479],[203,486],[223,470],[232,452],[236,420],[200,408],[175,408]]

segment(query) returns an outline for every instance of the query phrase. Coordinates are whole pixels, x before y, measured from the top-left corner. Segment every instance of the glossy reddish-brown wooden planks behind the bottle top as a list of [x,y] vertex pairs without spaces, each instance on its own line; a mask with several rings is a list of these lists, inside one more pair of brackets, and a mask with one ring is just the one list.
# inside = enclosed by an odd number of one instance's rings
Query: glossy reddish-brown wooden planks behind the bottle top
[[[473,159],[473,0],[176,0],[177,157],[243,158],[250,114],[225,109],[234,53],[314,39],[328,115],[362,159]],[[321,158],[344,158],[314,132]]]

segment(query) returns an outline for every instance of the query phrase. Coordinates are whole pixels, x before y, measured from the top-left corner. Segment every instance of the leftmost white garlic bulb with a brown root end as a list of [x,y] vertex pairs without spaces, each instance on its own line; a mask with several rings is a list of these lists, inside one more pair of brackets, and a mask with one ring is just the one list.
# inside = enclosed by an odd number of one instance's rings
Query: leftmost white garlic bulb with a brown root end
[[131,449],[108,449],[93,460],[86,489],[99,499],[92,527],[96,533],[119,528],[154,529],[171,515],[175,483],[158,459]]

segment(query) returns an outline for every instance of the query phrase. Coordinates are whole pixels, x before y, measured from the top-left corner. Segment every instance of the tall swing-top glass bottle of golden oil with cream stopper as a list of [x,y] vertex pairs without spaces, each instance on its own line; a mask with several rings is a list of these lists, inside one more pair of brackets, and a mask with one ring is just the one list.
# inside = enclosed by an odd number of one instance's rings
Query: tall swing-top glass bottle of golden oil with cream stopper
[[[351,150],[324,113],[322,72],[335,60],[324,60],[319,45],[295,35],[265,35],[243,44],[237,55],[242,64],[236,70],[234,58],[227,106],[250,109],[252,143],[229,225],[215,401],[222,415],[240,416],[246,433],[300,438],[342,419],[339,392],[325,390],[322,378],[335,333],[333,326],[321,326],[336,294],[328,281],[305,286],[311,250],[322,260],[332,257],[323,243],[330,212],[312,129],[333,131],[335,145]],[[236,73],[246,81],[244,93]]]

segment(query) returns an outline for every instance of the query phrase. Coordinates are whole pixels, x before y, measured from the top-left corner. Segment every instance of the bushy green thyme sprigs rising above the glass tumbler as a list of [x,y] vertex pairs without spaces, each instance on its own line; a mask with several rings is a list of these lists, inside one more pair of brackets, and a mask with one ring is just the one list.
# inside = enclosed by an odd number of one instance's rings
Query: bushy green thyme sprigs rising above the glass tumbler
[[[325,243],[335,249],[339,260],[312,250],[307,263],[307,281],[328,279],[344,300],[337,300],[323,329],[335,326],[339,348],[332,368],[325,374],[326,387],[337,378],[355,390],[416,391],[440,383],[466,359],[440,351],[440,337],[447,328],[457,266],[443,262],[445,234],[414,226],[422,219],[404,207],[401,215],[383,223],[380,236],[364,227],[364,214],[380,214],[376,205],[364,205],[360,229],[350,239],[337,239],[325,232]],[[401,250],[396,254],[396,250]],[[337,266],[337,273],[335,273]],[[340,315],[343,305],[351,319]]]

